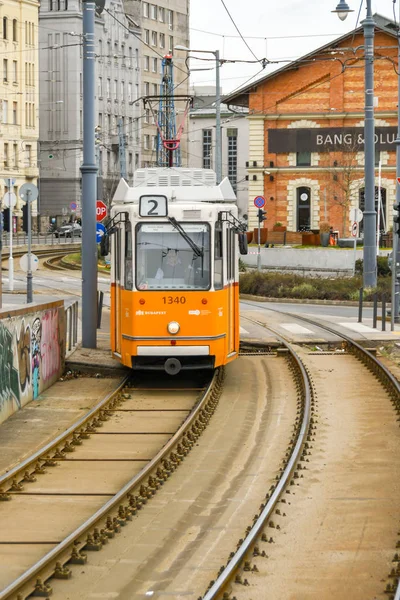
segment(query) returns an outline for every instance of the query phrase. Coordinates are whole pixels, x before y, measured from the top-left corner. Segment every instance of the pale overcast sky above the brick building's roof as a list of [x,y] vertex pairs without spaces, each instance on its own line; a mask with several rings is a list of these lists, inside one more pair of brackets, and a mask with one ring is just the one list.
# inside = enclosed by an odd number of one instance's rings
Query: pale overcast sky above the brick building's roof
[[[256,57],[278,61],[298,58],[354,29],[360,8],[360,0],[347,0],[354,12],[342,22],[337,15],[330,12],[335,9],[338,0],[224,1]],[[397,0],[397,19],[399,2],[400,0]],[[191,48],[219,49],[221,57],[225,59],[255,60],[240,37],[229,37],[238,36],[238,33],[221,0],[191,0],[190,4]],[[393,19],[393,1],[372,0],[372,11]],[[364,16],[365,0],[360,20]],[[198,56],[207,57],[204,54]],[[212,58],[212,55],[208,58]],[[183,60],[184,53],[175,51],[175,62],[179,64]],[[280,62],[267,67],[264,73],[267,74],[284,64],[286,63]],[[190,66],[191,69],[207,68],[212,66],[212,63],[192,60]],[[260,69],[259,64],[224,65],[221,69],[223,92],[230,92],[243,85]],[[261,75],[262,73],[258,77]],[[256,79],[254,78],[254,81]],[[199,85],[215,85],[215,71],[193,72],[192,81]]]

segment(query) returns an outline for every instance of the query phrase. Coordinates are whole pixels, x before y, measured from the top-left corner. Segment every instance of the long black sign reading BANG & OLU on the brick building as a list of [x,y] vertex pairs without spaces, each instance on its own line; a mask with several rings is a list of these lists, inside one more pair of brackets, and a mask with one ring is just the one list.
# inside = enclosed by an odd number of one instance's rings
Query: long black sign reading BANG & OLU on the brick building
[[[376,127],[377,150],[396,150],[397,127]],[[269,129],[268,152],[363,152],[363,127]]]

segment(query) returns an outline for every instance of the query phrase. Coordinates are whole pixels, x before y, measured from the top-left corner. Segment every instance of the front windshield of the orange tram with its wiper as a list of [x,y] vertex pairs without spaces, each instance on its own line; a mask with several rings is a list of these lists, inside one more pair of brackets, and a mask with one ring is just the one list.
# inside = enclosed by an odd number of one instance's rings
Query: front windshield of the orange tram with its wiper
[[[206,290],[210,287],[210,226],[140,223],[136,228],[136,287],[139,290]],[[192,247],[185,237],[193,242]],[[195,252],[194,249],[200,250]]]

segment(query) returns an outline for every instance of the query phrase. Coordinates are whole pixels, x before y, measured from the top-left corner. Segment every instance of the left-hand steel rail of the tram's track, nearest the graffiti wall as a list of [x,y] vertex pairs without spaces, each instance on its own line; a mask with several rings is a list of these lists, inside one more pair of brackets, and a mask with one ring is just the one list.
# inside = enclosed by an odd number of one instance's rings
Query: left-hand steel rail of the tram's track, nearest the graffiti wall
[[[30,456],[25,458],[22,462],[15,465],[15,467],[13,467],[9,471],[7,471],[7,473],[3,473],[3,475],[0,475],[0,493],[7,492],[7,490],[4,490],[2,487],[5,483],[7,483],[7,481],[15,479],[19,473],[23,473],[25,476],[25,472],[26,472],[27,468],[32,466],[37,461],[50,460],[51,457],[46,456],[46,455],[48,455],[49,452],[56,450],[57,446],[66,442],[67,439],[71,435],[73,435],[74,433],[77,433],[77,430],[80,427],[82,427],[83,425],[86,425],[88,421],[90,421],[94,416],[96,416],[96,414],[98,412],[100,412],[110,402],[110,400],[112,400],[114,398],[114,396],[116,396],[117,394],[119,394],[121,392],[121,390],[127,384],[130,376],[131,376],[130,374],[125,375],[115,390],[109,392],[105,398],[100,400],[100,402],[98,402],[92,409],[90,409],[89,412],[87,412],[78,421],[76,421],[70,427],[68,427],[68,429],[63,431],[63,433],[60,433],[56,438],[54,438],[53,440],[48,442],[45,446],[43,446],[43,448],[39,448],[39,450],[37,450],[34,454],[31,454]],[[22,477],[22,479],[23,479],[23,477]]]

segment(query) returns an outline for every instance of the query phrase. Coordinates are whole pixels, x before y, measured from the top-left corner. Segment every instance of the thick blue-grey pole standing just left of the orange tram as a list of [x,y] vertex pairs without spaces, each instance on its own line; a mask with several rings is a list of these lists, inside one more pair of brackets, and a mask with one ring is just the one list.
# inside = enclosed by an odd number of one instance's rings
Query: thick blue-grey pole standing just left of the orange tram
[[82,347],[96,348],[95,10],[83,0]]

